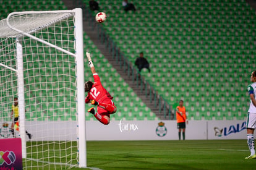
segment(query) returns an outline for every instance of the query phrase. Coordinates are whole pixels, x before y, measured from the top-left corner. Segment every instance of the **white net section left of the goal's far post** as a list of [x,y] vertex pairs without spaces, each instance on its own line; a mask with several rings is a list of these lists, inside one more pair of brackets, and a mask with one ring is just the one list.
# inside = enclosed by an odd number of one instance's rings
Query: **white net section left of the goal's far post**
[[[15,40],[13,38],[0,40],[0,63],[16,69]],[[14,70],[0,66],[0,138],[13,137],[11,128],[11,108],[17,97],[17,74]]]

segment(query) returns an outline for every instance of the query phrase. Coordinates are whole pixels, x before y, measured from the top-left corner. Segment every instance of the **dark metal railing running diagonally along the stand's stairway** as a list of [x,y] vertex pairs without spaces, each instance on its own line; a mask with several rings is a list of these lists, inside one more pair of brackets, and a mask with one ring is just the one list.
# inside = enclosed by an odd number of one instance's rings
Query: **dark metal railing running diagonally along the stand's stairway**
[[140,88],[141,93],[149,98],[150,103],[154,104],[155,108],[158,108],[160,114],[158,116],[163,115],[164,119],[174,119],[174,114],[172,113],[171,104],[166,101],[163,96],[158,94],[158,91],[155,90],[153,85],[150,84],[145,77],[143,77],[137,67],[127,59],[127,57],[120,51],[114,41],[106,34],[105,30],[100,24],[95,24],[95,19],[90,12],[90,10],[83,6],[83,14],[84,17],[90,22],[92,26],[92,30],[96,29],[98,32],[98,39],[101,41],[101,44],[105,45],[105,48],[108,49],[111,57],[119,64],[120,68],[126,72],[128,77],[132,79],[132,81],[136,84],[138,88]]

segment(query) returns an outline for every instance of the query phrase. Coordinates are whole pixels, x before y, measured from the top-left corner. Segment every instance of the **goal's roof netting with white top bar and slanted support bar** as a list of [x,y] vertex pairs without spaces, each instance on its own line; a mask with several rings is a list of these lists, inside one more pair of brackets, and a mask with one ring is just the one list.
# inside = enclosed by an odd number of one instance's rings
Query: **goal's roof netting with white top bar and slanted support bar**
[[[17,14],[19,15],[19,20],[15,20],[15,17],[13,17]],[[33,15],[28,17],[27,14]],[[42,20],[36,20],[34,15],[40,15]],[[67,51],[66,49],[59,48],[59,46],[53,45],[45,40],[41,40],[40,38],[31,35],[31,33],[36,32],[36,30],[41,30],[49,25],[52,25],[53,23],[58,23],[59,21],[67,19],[73,15],[74,11],[12,12],[8,15],[7,19],[1,20],[0,37],[19,37],[25,35],[45,45],[56,48],[63,53],[69,54],[70,56],[75,56],[74,53],[70,53],[70,51]],[[22,17],[22,19],[20,19],[20,17]],[[29,23],[33,23],[33,27],[31,27],[31,24]]]

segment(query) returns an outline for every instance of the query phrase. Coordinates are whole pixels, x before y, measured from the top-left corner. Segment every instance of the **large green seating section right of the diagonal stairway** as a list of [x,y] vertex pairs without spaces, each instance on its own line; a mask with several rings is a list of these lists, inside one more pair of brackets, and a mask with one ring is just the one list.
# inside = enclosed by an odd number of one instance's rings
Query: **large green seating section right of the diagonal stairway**
[[[88,0],[83,0],[88,5]],[[101,1],[103,27],[131,62],[143,51],[142,71],[166,100],[185,100],[189,119],[244,119],[255,69],[255,10],[245,1]],[[93,15],[96,12],[92,12]]]

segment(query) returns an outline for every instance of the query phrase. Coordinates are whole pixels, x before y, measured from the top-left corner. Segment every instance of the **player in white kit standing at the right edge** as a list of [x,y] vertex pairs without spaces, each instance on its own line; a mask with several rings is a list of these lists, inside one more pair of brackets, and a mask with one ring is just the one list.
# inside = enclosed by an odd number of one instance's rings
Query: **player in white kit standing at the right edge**
[[250,156],[245,159],[255,159],[255,148],[254,148],[254,129],[256,128],[256,70],[252,72],[250,76],[250,81],[252,82],[248,86],[248,92],[250,95],[250,107],[247,114],[247,143],[250,150]]

